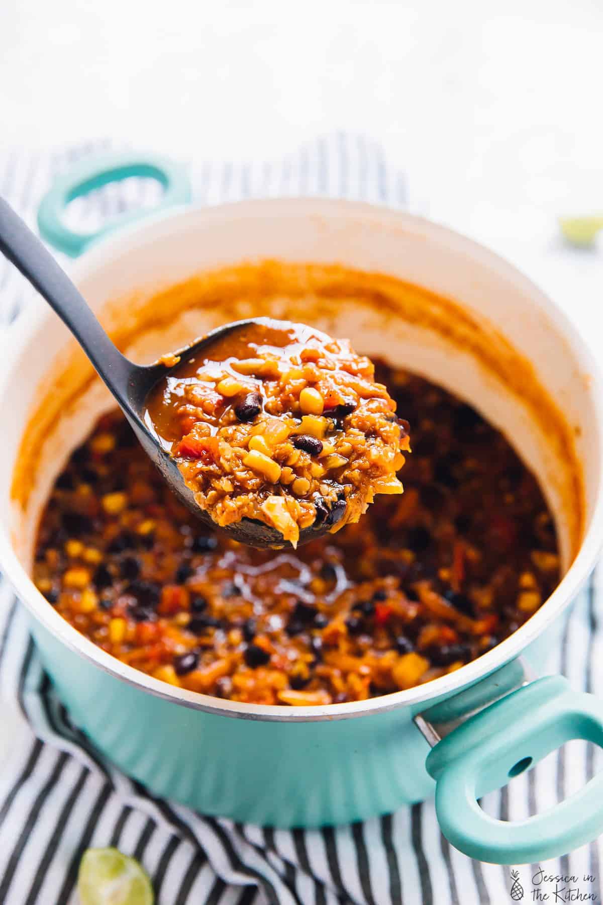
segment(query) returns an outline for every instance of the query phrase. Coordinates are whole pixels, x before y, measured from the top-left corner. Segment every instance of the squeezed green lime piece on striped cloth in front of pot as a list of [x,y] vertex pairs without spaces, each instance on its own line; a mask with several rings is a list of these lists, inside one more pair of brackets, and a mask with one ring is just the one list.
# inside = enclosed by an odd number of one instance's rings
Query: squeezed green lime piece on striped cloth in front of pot
[[117,849],[88,849],[80,861],[81,905],[153,905],[155,896],[141,865]]

